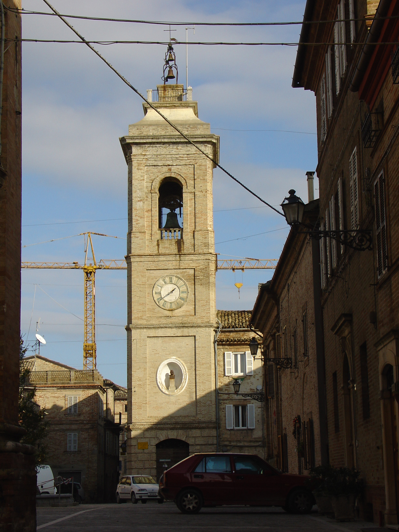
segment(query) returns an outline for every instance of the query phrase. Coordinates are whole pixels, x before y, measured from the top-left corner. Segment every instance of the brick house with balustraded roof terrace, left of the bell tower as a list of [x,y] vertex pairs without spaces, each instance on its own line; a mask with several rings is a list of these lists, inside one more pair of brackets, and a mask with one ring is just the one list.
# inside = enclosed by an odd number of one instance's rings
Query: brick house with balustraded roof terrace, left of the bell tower
[[97,370],[28,356],[29,385],[49,422],[46,463],[54,477],[81,483],[86,502],[114,502],[119,481],[119,386]]

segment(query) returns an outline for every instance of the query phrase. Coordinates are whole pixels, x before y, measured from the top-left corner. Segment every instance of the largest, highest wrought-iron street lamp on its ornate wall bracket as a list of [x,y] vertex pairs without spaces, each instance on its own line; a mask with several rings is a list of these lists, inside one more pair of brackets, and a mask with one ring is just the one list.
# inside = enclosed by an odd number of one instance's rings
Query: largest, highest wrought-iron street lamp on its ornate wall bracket
[[[300,197],[295,195],[295,190],[288,190],[289,196],[284,198],[281,203],[282,211],[289,226],[294,227],[297,233],[309,235],[310,238],[320,240],[327,237],[337,240],[344,246],[351,247],[356,251],[365,251],[372,249],[372,234],[367,229],[349,229],[349,230],[315,230],[311,226],[302,223],[305,204]],[[306,231],[298,231],[298,227],[304,227]]]

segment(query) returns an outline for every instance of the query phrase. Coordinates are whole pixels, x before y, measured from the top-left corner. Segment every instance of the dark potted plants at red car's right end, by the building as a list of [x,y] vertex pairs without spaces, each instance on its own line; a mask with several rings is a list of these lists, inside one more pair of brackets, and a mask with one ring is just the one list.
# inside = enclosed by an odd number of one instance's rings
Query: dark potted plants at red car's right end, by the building
[[355,500],[363,490],[359,471],[320,465],[310,471],[310,476],[318,483],[313,495],[320,513],[334,514],[337,521],[355,519]]

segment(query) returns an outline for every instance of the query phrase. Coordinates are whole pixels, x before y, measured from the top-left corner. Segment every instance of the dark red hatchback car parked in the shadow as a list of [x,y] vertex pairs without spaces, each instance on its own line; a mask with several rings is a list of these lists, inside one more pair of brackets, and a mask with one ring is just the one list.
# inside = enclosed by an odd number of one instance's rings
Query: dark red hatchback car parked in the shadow
[[315,501],[306,478],[281,473],[255,454],[206,453],[173,465],[163,473],[159,488],[162,497],[183,513],[232,504],[309,513]]

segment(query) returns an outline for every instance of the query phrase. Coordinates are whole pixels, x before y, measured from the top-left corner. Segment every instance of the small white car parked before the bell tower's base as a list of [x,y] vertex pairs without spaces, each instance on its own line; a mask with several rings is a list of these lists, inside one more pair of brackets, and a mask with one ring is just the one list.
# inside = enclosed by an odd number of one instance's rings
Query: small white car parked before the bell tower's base
[[126,502],[130,499],[133,504],[148,500],[163,503],[163,498],[158,494],[159,486],[148,475],[131,475],[122,477],[117,487],[117,503]]

